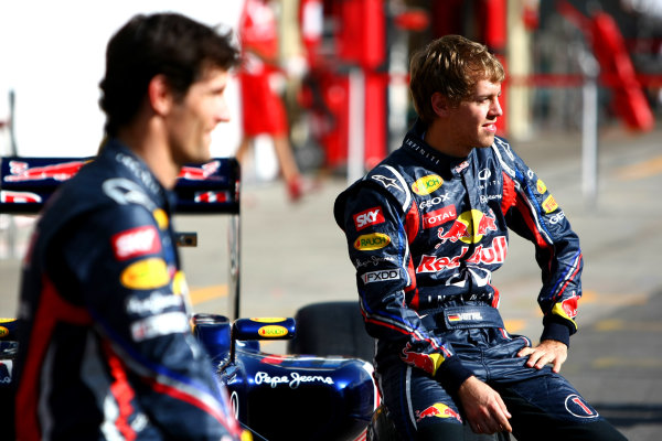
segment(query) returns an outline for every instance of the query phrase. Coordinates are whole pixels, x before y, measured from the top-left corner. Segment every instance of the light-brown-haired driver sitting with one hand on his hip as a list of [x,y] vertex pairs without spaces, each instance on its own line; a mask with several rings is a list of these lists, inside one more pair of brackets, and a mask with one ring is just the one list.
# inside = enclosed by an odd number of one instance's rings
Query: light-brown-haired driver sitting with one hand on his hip
[[[410,64],[419,119],[403,146],[341,193],[376,376],[401,437],[623,440],[558,372],[576,332],[579,240],[536,174],[495,137],[504,71],[458,35]],[[510,335],[492,271],[509,228],[536,249],[541,343]],[[551,366],[549,366],[551,365]]]

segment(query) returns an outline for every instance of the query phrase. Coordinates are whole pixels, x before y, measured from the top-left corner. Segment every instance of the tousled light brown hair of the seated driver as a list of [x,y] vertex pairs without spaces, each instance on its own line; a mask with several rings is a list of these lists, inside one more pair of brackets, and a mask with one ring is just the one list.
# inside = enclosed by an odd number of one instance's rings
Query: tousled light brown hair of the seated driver
[[503,65],[488,47],[461,35],[445,35],[412,56],[409,89],[418,117],[430,123],[436,114],[430,98],[438,92],[459,104],[481,79],[501,83]]

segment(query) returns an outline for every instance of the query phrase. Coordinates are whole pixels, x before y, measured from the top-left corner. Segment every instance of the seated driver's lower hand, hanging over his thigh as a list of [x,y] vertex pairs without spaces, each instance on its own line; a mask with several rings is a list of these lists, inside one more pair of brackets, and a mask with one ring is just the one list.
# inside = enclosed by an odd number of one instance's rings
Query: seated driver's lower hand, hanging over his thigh
[[458,389],[458,395],[473,432],[492,434],[513,431],[508,422],[511,415],[501,396],[480,379],[473,376],[467,378]]

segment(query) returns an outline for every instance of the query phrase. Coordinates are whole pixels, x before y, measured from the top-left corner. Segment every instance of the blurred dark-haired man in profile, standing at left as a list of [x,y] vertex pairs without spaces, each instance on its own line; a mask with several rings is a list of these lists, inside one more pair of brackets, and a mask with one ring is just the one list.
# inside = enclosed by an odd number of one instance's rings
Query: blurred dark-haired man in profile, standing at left
[[184,163],[229,118],[237,51],[179,14],[138,15],[110,40],[107,142],[49,202],[20,299],[19,440],[237,440],[193,340],[171,223]]

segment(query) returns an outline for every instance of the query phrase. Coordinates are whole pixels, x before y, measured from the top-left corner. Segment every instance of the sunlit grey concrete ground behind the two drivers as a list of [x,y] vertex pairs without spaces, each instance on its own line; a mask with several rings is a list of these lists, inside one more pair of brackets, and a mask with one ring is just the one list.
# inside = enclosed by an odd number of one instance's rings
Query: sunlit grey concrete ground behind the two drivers
[[[602,132],[599,192],[590,202],[583,197],[578,133],[514,142],[583,240],[579,333],[562,372],[638,441],[662,439],[661,135],[660,129],[643,136]],[[303,304],[355,299],[353,267],[331,212],[346,182],[329,176],[321,184],[299,204],[290,204],[279,183],[245,183],[242,315],[293,315]],[[183,252],[195,309],[226,311],[225,220],[183,217],[178,227],[200,234],[201,246]],[[21,228],[21,240],[25,230]],[[494,276],[501,311],[512,333],[535,340],[542,319],[535,304],[540,270],[533,247],[513,237],[509,251]],[[0,259],[0,316],[15,311],[19,266],[17,259]],[[280,352],[282,346],[265,351]]]

